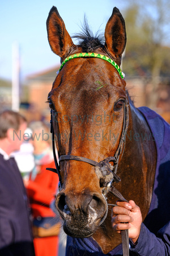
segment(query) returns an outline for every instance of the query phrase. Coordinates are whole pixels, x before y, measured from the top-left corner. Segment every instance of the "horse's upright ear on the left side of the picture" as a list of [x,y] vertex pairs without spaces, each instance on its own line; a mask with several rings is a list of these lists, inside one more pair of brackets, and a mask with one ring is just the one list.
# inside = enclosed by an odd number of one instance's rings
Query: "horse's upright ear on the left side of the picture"
[[52,51],[59,57],[64,57],[69,48],[74,46],[74,44],[55,6],[49,12],[46,28]]

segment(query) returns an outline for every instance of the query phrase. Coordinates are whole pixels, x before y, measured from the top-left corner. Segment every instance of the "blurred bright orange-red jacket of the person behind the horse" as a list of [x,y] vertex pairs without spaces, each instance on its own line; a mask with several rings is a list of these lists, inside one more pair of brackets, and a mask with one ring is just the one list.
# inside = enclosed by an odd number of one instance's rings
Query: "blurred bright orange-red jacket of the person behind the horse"
[[54,162],[44,164],[40,167],[35,180],[29,180],[27,193],[34,218],[54,217],[55,214],[50,209],[50,203],[54,200],[58,187],[58,175],[46,168],[55,168]]

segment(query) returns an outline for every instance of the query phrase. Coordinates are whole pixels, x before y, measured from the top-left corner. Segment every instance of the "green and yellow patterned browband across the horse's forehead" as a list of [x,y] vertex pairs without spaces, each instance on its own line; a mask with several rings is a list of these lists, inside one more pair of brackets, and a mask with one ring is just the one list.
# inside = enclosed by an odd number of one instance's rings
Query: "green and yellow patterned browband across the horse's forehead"
[[66,59],[62,62],[61,67],[59,68],[59,71],[61,71],[63,65],[65,65],[65,63],[69,60],[72,59],[76,59],[76,58],[84,58],[84,57],[95,57],[95,58],[99,58],[99,59],[103,59],[103,60],[107,60],[109,63],[111,63],[113,65],[114,68],[117,69],[119,75],[122,77],[122,79],[124,79],[125,74],[121,71],[121,68],[118,67],[118,65],[116,64],[116,62],[114,62],[113,60],[109,59],[109,57],[105,56],[105,55],[101,55],[99,53],[94,53],[94,52],[82,52],[82,53],[76,53],[74,55],[70,55],[69,57],[66,57]]

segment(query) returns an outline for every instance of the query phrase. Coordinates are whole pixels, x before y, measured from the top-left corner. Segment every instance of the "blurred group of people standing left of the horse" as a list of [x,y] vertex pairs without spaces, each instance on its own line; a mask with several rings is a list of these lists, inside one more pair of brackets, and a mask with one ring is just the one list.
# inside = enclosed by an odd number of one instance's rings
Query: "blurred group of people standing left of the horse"
[[55,207],[58,175],[49,124],[0,114],[0,255],[62,256],[66,235]]

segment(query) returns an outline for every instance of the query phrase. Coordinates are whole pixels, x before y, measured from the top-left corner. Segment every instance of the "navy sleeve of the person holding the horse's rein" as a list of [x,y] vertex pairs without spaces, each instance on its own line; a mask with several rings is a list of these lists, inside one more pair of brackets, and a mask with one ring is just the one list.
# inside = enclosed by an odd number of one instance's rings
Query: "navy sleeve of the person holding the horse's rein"
[[142,223],[137,245],[130,243],[131,255],[170,255],[170,221],[156,234],[151,233]]

